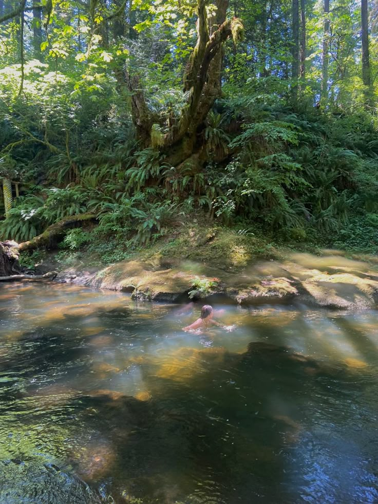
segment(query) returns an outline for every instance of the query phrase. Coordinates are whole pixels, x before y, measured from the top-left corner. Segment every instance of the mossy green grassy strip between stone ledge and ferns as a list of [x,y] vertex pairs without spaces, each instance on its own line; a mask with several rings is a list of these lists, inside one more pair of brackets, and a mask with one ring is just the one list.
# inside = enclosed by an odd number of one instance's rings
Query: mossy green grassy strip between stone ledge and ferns
[[284,260],[292,252],[322,255],[324,249],[337,249],[347,257],[375,262],[378,227],[365,216],[354,216],[337,233],[325,235],[308,228],[305,237],[291,239],[279,233],[264,232],[253,223],[222,226],[205,215],[172,218],[164,234],[140,245],[133,236],[99,237],[96,226],[67,232],[56,250],[23,252],[21,263],[33,268],[53,261],[56,267],[106,267],[124,260],[140,260],[154,267],[174,267],[183,260],[206,264],[226,272],[240,272],[263,259]]

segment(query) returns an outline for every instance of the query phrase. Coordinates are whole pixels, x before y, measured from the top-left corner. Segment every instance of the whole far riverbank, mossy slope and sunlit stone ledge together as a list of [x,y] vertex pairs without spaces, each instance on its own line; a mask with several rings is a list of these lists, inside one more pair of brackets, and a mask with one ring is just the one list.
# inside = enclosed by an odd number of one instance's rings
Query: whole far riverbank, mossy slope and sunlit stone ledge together
[[224,227],[194,222],[148,247],[114,246],[114,256],[125,259],[107,266],[102,252],[93,246],[50,252],[36,271],[56,269],[60,282],[129,292],[148,301],[269,301],[352,310],[375,307],[378,301],[374,255],[300,244],[295,250]]

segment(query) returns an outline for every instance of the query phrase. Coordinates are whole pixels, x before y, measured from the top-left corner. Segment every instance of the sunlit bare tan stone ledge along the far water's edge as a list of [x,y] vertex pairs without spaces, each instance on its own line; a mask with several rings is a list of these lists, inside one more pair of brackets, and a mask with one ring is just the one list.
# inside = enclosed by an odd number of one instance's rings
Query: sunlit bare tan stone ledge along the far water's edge
[[140,300],[185,302],[214,298],[240,305],[299,302],[316,307],[368,309],[378,302],[378,270],[341,255],[291,253],[237,273],[189,261],[154,265],[138,260],[102,270],[70,268],[58,280],[92,288],[130,292]]

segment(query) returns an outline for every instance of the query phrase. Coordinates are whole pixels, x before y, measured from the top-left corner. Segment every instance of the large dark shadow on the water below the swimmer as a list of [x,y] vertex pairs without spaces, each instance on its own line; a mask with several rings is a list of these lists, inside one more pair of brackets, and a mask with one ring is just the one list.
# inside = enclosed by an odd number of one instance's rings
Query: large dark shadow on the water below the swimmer
[[[312,435],[312,420],[304,419],[303,411],[313,409],[316,398],[324,400],[325,383],[348,386],[348,370],[333,370],[288,347],[267,343],[253,342],[242,354],[183,350],[181,358],[191,364],[196,354],[198,368],[191,378],[182,379],[175,363],[143,369],[150,378],[152,400],[109,390],[75,399],[84,407],[83,423],[92,422],[106,446],[101,454],[99,443],[93,467],[85,464],[84,479],[95,483],[99,476],[107,479],[121,471],[127,484],[123,483],[123,490],[112,488],[114,495],[120,498],[126,489],[137,497],[147,495],[146,502],[298,499],[298,486],[302,483],[306,488],[306,476],[297,479],[292,464],[304,455],[301,443],[308,443],[307,436]],[[182,363],[178,367],[182,370]],[[337,403],[338,394],[335,391],[331,404]],[[96,416],[90,413],[93,410]],[[353,419],[353,408],[344,413],[348,421]],[[339,423],[342,428],[344,419]],[[323,442],[326,449],[327,441],[334,440],[329,436]],[[324,467],[332,482],[319,478],[312,485],[314,501],[327,492],[339,501],[349,496],[342,480],[335,490],[336,462],[341,463],[328,460]],[[372,496],[375,499],[378,493],[372,491]]]

